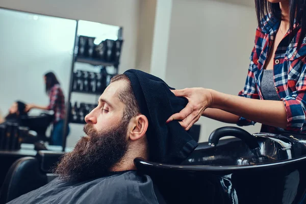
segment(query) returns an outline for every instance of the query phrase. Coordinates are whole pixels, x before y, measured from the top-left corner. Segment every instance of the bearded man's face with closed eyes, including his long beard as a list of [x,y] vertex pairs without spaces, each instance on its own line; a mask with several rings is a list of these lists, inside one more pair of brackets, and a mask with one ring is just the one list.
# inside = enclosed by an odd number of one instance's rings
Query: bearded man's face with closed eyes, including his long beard
[[122,120],[124,104],[117,97],[124,83],[111,83],[100,96],[98,106],[85,117],[87,136],[65,154],[54,171],[64,181],[82,182],[104,176],[125,155],[130,142],[129,121]]

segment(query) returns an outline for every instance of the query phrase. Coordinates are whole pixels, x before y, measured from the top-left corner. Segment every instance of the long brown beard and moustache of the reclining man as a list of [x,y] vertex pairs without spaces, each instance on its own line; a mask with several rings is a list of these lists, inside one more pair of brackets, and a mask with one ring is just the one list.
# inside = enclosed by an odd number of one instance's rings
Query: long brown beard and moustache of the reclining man
[[86,124],[84,132],[87,137],[82,137],[54,169],[63,181],[83,182],[105,176],[129,147],[126,122],[100,132],[92,124]]

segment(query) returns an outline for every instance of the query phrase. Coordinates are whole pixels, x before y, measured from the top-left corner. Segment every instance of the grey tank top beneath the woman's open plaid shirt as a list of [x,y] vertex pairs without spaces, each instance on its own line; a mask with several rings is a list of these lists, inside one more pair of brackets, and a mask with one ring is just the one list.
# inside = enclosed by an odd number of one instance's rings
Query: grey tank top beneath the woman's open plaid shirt
[[280,100],[274,86],[273,70],[264,69],[261,81],[261,91],[265,100]]

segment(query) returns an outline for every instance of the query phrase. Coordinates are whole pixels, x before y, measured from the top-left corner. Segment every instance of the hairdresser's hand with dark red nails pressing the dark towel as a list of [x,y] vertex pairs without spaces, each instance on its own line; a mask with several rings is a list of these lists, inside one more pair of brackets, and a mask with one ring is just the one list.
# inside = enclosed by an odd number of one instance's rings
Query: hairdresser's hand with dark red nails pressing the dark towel
[[185,130],[199,120],[203,111],[209,108],[212,104],[212,93],[205,88],[187,88],[182,90],[171,90],[175,96],[186,97],[189,101],[187,106],[180,112],[173,114],[167,123],[172,120],[182,120],[180,124]]

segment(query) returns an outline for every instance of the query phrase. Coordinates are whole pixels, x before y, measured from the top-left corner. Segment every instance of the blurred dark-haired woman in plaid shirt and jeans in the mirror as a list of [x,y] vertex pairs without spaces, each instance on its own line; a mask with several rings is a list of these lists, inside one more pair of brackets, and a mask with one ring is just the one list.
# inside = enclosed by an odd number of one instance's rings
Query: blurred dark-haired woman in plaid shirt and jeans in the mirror
[[[57,80],[53,72],[48,72],[44,75],[44,81],[46,86],[46,93],[49,96],[50,103],[48,106],[38,106],[36,104],[29,104],[25,107],[25,111],[31,109],[42,109],[42,110],[53,110],[54,121],[53,121],[53,132],[52,140],[53,145],[62,145],[63,141],[63,129],[64,129],[64,118],[65,118],[65,97],[61,89],[60,83]],[[69,127],[67,134],[69,133]]]

